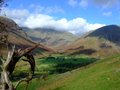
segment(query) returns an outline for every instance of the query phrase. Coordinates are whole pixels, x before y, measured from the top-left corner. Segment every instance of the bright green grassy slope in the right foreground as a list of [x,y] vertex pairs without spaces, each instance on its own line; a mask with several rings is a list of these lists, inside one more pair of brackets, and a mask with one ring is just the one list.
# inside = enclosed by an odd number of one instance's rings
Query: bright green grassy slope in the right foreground
[[37,90],[120,90],[120,55],[110,56],[52,79]]

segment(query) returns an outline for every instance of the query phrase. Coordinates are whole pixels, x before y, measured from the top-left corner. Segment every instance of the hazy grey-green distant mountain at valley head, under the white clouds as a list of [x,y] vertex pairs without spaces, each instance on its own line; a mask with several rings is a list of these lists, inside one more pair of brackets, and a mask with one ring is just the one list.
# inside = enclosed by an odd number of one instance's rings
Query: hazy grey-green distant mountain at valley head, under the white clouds
[[30,36],[33,41],[37,41],[52,47],[58,47],[66,44],[68,45],[78,38],[72,33],[58,31],[52,28],[30,29],[27,27],[22,27],[22,29]]

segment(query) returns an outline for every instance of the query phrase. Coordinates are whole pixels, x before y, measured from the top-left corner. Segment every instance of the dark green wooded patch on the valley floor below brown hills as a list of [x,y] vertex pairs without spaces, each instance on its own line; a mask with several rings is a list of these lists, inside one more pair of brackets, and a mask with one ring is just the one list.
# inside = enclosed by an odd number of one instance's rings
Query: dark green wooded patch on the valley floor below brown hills
[[49,56],[47,58],[38,59],[38,72],[48,72],[49,74],[64,73],[73,69],[86,66],[96,61],[95,58],[76,56]]

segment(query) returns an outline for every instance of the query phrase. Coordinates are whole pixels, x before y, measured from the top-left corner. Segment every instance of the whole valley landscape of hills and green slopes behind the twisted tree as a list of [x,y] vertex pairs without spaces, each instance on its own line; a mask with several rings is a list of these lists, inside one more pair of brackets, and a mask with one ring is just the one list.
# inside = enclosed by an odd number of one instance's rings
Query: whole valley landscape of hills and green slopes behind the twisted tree
[[[5,17],[0,17],[0,22],[6,25],[8,42],[16,45],[16,50],[39,44],[31,53],[36,67],[28,90],[120,89],[119,26],[103,26],[79,37],[51,28],[19,27]],[[1,44],[0,54],[5,56],[7,52],[6,46]],[[10,78],[13,84],[29,75],[30,66],[24,58],[15,66]],[[17,90],[25,86],[26,83],[22,83]]]

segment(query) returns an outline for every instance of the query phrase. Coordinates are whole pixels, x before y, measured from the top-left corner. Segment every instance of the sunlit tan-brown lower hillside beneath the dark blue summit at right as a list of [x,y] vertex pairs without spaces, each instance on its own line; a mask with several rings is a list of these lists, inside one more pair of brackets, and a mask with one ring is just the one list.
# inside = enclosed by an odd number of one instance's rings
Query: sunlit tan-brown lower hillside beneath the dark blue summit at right
[[61,47],[65,54],[81,55],[86,54],[94,57],[106,57],[108,55],[118,54],[120,47],[114,43],[98,37],[80,38],[72,44]]

